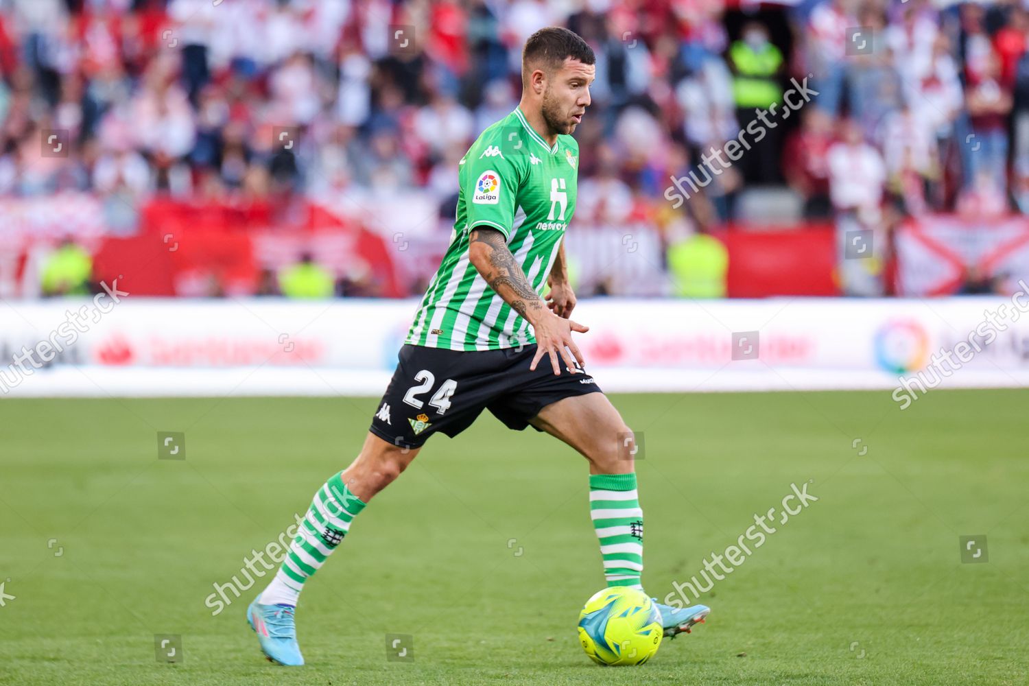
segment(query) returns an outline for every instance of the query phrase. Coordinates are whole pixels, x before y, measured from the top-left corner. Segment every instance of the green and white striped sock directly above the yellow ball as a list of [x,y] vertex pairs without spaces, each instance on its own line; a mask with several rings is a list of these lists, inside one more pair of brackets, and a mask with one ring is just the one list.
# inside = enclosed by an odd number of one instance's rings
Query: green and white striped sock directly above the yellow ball
[[643,510],[636,473],[590,474],[590,518],[600,539],[607,585],[642,589]]

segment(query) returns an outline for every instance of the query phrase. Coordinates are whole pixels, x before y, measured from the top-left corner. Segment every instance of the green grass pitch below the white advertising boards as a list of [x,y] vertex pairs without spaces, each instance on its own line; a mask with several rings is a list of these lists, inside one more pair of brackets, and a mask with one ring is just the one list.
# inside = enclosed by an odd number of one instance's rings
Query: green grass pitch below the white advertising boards
[[[205,599],[349,463],[375,399],[2,400],[0,683],[1027,683],[1029,392],[613,400],[644,436],[651,594],[790,483],[819,499],[716,582],[707,624],[642,667],[590,662],[587,463],[486,413],[429,441],[308,584],[294,671],[244,619],[264,581],[217,616]],[[185,432],[185,460],[156,459],[159,431]],[[984,534],[988,562],[962,563]]]

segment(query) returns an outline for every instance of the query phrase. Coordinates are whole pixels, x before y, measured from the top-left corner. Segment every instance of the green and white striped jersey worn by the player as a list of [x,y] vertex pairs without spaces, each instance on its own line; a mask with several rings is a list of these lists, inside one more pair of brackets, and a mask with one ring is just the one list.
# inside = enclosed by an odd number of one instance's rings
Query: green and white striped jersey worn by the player
[[535,342],[529,323],[468,259],[468,234],[480,226],[503,233],[529,283],[542,294],[575,210],[578,143],[558,136],[554,147],[546,145],[516,109],[484,131],[460,165],[450,247],[405,342],[457,351]]

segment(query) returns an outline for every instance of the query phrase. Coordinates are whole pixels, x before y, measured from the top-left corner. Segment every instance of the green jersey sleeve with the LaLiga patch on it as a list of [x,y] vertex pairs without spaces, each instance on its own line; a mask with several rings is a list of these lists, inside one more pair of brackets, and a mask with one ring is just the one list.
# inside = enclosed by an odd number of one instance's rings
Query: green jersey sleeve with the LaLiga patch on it
[[[477,156],[467,159],[466,176],[462,181],[468,213],[466,230],[489,226],[509,239],[521,177],[518,166],[505,159],[497,145],[489,145],[475,152],[478,152]],[[472,155],[473,152],[469,151],[468,157]]]

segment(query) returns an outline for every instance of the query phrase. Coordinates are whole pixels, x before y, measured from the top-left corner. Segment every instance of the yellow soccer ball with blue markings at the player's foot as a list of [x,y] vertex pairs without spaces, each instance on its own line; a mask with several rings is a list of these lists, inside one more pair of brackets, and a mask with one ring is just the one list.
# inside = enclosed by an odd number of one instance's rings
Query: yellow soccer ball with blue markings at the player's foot
[[579,613],[582,650],[597,664],[642,664],[661,646],[661,611],[646,593],[627,586],[598,591]]

